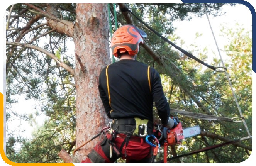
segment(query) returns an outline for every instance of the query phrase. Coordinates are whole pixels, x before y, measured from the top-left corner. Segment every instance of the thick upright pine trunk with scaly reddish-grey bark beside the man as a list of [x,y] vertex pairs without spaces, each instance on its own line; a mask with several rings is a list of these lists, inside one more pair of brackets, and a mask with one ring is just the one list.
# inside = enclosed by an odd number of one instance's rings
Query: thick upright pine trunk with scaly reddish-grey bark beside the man
[[[110,121],[98,92],[100,71],[110,64],[109,18],[107,4],[76,5],[74,28],[76,53],[85,71],[76,60],[76,147],[95,136]],[[82,161],[102,137],[94,139],[75,153]]]

